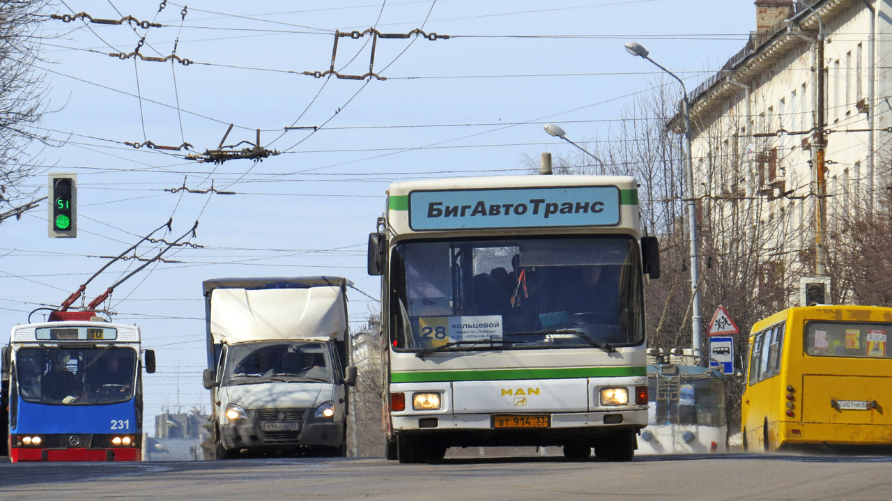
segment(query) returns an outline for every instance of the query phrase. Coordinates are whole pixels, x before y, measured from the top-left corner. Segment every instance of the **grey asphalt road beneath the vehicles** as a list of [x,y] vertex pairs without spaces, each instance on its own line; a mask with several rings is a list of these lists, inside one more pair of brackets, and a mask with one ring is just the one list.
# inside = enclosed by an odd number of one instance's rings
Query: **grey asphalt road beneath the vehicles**
[[0,499],[883,500],[892,456],[279,458],[133,464],[0,464]]

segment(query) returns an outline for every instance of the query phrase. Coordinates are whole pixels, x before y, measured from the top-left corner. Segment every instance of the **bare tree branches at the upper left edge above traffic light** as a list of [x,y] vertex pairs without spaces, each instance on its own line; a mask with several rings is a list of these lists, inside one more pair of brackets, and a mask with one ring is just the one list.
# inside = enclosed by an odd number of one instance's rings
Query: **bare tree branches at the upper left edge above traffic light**
[[[35,29],[48,0],[0,1],[0,214],[15,209],[33,193],[21,183],[37,167],[26,148],[47,136],[35,132],[45,112],[45,85],[37,73],[38,38]],[[2,220],[2,218],[0,218]]]

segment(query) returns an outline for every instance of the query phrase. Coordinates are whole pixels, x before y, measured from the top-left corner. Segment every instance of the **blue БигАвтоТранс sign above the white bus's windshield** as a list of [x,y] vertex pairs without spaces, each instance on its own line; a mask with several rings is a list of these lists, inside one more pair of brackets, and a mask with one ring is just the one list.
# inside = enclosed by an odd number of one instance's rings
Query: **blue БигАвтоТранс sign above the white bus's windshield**
[[468,228],[616,226],[616,186],[437,190],[409,193],[415,231]]

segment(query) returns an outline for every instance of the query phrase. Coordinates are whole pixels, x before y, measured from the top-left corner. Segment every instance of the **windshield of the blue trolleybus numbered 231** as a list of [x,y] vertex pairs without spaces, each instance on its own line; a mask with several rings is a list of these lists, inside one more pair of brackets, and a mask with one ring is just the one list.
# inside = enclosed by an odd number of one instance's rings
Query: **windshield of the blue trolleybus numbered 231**
[[27,402],[88,406],[133,398],[136,350],[22,348],[16,355],[21,398]]

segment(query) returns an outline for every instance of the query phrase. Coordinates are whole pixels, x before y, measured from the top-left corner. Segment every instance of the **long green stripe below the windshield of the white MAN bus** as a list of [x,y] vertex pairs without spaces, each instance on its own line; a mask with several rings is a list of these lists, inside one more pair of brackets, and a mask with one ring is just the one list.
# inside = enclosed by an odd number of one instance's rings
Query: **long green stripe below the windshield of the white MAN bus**
[[501,381],[520,379],[569,379],[647,375],[645,367],[569,367],[561,369],[491,369],[485,371],[437,371],[393,373],[391,382]]

